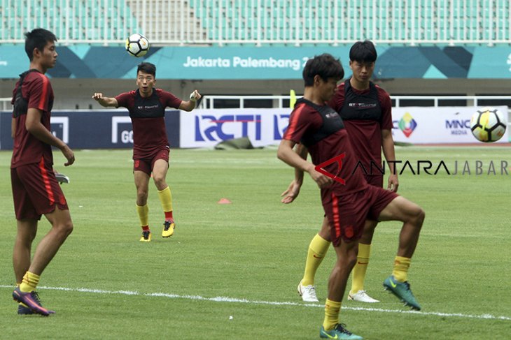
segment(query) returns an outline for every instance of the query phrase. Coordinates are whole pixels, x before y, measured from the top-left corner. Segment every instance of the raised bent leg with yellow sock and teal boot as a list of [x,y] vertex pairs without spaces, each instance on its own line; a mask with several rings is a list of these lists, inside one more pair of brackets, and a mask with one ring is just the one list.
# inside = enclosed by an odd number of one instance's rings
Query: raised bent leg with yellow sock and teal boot
[[410,285],[407,281],[409,265],[412,261],[425,213],[419,205],[401,196],[392,200],[379,214],[381,221],[402,221],[399,236],[399,248],[394,259],[394,267],[391,276],[385,279],[383,285],[390,290],[407,306],[420,310],[421,306],[416,301]]

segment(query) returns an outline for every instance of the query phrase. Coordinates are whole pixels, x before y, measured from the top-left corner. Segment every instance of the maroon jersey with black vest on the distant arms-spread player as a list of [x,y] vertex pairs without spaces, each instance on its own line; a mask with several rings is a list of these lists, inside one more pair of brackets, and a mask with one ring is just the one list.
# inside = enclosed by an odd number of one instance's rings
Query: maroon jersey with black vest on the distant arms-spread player
[[153,89],[144,98],[139,90],[115,97],[118,105],[130,112],[133,125],[133,159],[151,158],[158,149],[169,147],[165,129],[165,108],[179,108],[181,99],[162,89]]

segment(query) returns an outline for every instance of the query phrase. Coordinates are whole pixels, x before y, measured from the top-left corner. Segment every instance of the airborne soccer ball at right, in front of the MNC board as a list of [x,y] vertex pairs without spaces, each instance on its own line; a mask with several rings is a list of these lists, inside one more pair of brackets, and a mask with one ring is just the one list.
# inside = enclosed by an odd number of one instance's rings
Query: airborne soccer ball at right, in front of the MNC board
[[477,140],[481,142],[496,142],[505,133],[507,119],[496,108],[483,108],[472,114],[470,130]]

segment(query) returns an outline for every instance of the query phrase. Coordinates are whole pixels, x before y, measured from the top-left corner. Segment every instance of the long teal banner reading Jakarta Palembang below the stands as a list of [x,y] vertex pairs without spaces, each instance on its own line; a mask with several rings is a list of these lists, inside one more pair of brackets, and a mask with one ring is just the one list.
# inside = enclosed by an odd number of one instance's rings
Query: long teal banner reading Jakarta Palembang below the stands
[[[346,75],[350,45],[274,47],[151,47],[143,58],[122,46],[57,46],[59,57],[50,77],[133,79],[137,65],[148,61],[160,79],[272,80],[301,79],[309,57],[330,53],[341,59]],[[505,46],[377,45],[374,77],[379,79],[510,79],[511,50]],[[22,45],[0,43],[0,78],[17,78],[28,67]]]

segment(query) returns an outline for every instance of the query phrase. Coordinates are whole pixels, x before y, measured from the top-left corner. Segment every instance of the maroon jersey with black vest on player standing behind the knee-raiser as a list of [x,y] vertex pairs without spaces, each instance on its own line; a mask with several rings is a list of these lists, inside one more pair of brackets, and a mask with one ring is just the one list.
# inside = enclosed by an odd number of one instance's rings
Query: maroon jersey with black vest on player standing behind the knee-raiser
[[358,91],[349,86],[349,80],[346,80],[339,84],[328,105],[342,117],[351,145],[367,175],[371,172],[381,175],[376,168],[371,171],[370,164],[373,162],[381,168],[381,130],[392,130],[393,127],[391,97],[372,82],[369,89]]

